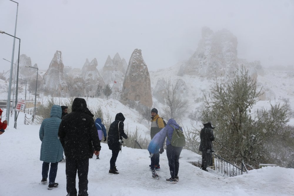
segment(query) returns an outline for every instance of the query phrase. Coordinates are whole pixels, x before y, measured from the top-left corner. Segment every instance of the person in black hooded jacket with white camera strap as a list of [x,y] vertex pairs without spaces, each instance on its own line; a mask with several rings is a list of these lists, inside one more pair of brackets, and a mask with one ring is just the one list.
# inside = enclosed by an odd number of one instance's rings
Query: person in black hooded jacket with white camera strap
[[118,174],[118,170],[116,169],[116,158],[118,156],[119,151],[121,150],[121,144],[123,143],[122,139],[127,139],[128,136],[123,131],[123,121],[125,117],[122,113],[118,113],[115,116],[115,120],[111,123],[108,130],[108,147],[112,150],[112,156],[110,159],[110,169],[109,173]]

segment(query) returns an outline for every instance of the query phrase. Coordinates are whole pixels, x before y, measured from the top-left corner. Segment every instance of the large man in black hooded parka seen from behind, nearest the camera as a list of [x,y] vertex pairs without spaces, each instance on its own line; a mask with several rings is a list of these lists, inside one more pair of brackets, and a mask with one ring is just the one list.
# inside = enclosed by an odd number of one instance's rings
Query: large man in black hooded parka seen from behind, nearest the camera
[[[101,150],[93,114],[83,98],[75,98],[72,112],[65,115],[59,126],[58,136],[66,156],[66,190],[68,195],[77,195],[76,173],[78,172],[78,195],[88,195],[89,158]],[[92,143],[95,151],[92,149]]]

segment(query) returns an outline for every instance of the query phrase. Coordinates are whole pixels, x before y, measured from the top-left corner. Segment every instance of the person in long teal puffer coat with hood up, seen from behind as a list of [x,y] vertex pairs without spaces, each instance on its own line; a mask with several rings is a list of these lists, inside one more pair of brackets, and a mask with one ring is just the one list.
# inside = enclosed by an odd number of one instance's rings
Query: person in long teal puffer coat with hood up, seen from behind
[[61,112],[62,110],[60,105],[53,105],[51,108],[50,118],[43,120],[39,131],[39,137],[42,141],[40,160],[43,161],[41,183],[47,183],[49,164],[51,163],[48,186],[49,190],[58,186],[58,183],[55,183],[55,178],[57,174],[58,162],[63,156],[63,148],[58,138],[58,129],[61,123]]

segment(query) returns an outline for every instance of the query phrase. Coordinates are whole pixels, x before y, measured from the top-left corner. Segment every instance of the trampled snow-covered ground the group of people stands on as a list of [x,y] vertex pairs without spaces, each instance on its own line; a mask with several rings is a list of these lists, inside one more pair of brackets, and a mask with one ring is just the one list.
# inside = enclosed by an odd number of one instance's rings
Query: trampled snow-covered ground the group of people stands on
[[[129,116],[129,119],[131,118]],[[0,195],[66,195],[65,163],[58,165],[55,182],[59,183],[59,187],[47,190],[48,185],[40,184],[42,178],[42,162],[39,160],[40,125],[24,125],[23,119],[24,114],[20,112],[17,129],[13,128],[11,120],[5,133],[0,135]],[[119,174],[111,175],[108,173],[111,150],[108,149],[107,144],[102,143],[101,146],[99,156],[101,159],[89,161],[88,194],[92,196],[293,195],[294,169],[263,167],[251,170],[248,174],[223,177],[210,168],[205,172],[188,163],[201,158],[200,155],[188,150],[183,150],[181,153],[180,181],[177,184],[166,183],[165,179],[170,177],[166,152],[160,158],[159,180],[151,178],[148,151],[126,147],[122,148],[116,162]]]

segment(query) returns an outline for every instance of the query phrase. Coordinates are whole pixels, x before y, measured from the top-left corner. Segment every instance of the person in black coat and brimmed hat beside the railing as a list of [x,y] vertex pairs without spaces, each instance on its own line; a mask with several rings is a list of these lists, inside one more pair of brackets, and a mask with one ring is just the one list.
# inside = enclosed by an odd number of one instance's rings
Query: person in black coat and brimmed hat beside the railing
[[208,171],[206,167],[208,167],[208,164],[211,160],[211,153],[214,152],[212,141],[214,140],[213,135],[213,129],[215,128],[211,121],[208,121],[206,123],[203,123],[204,127],[200,131],[200,145],[199,145],[199,151],[202,152],[202,164],[201,169],[204,171]]

